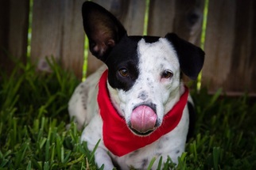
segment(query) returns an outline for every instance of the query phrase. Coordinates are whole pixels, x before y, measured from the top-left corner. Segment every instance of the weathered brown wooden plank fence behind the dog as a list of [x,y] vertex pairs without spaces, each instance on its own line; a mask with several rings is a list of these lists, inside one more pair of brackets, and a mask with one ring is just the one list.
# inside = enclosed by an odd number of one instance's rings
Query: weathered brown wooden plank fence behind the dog
[[[82,77],[84,0],[33,0],[31,59],[39,70],[48,70],[45,56],[54,56],[65,69]],[[148,11],[147,34],[176,32],[200,46],[204,0],[95,0],[127,28],[142,35]],[[210,92],[223,88],[231,95],[256,95],[256,1],[209,0],[204,43],[206,58],[202,85]],[[15,56],[26,62],[29,0],[0,0],[0,66],[11,70]],[[102,63],[89,55],[87,74]]]

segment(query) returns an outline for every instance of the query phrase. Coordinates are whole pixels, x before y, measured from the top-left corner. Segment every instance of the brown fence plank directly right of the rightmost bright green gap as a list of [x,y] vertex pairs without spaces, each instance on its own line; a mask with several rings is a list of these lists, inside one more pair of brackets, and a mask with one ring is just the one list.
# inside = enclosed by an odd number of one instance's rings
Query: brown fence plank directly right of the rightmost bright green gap
[[206,29],[206,58],[202,82],[209,90],[223,86],[231,64],[231,51],[235,39],[235,3],[233,0],[210,1]]

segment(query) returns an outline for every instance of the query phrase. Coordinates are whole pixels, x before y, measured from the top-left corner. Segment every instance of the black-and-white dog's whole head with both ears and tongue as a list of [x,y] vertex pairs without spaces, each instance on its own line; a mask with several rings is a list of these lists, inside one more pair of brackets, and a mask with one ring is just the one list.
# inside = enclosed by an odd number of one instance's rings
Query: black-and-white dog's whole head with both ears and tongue
[[114,107],[134,134],[150,134],[184,92],[180,73],[192,79],[200,73],[204,51],[174,33],[127,36],[122,24],[93,2],[84,2],[82,12],[90,51],[108,67]]

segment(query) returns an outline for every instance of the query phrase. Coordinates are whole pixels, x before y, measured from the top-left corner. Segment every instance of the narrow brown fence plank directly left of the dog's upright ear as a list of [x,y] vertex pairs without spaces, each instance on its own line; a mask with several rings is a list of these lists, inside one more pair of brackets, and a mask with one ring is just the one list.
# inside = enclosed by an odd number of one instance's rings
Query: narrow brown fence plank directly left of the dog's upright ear
[[83,76],[84,32],[82,4],[84,0],[66,0],[64,6],[64,34],[61,44],[62,66],[73,70],[76,77]]

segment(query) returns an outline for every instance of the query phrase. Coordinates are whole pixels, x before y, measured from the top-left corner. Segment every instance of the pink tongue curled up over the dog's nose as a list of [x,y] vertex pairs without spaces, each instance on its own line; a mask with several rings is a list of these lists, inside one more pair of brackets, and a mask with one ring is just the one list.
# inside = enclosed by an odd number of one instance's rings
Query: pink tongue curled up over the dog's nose
[[156,122],[157,114],[145,105],[135,108],[130,116],[131,127],[141,133],[153,130]]

